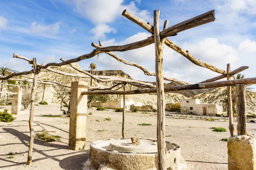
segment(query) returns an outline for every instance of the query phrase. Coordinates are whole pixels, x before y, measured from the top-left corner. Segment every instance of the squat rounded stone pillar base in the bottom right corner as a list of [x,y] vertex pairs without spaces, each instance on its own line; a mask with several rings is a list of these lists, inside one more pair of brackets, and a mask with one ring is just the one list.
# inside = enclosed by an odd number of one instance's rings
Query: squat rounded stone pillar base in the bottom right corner
[[228,170],[256,170],[256,141],[247,135],[227,141]]

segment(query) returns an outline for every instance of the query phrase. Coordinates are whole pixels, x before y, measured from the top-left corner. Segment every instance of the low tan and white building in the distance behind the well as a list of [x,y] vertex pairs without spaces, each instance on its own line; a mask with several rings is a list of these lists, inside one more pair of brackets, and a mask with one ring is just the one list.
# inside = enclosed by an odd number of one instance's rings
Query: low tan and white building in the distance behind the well
[[[125,101],[125,110],[130,110],[131,105],[134,106],[143,106],[142,102],[134,102],[133,99],[130,99],[128,101]],[[110,108],[110,109],[116,109],[116,108],[123,108],[124,107],[124,101],[123,100],[110,100],[108,102],[102,103],[102,102],[91,102],[92,107],[104,107],[104,108]]]

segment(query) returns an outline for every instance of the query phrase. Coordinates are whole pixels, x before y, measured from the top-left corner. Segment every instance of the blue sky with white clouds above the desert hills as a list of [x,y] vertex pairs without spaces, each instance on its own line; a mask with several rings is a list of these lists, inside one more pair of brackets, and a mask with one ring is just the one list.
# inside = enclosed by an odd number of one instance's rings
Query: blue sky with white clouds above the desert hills
[[[169,37],[194,57],[226,70],[249,66],[241,72],[256,77],[256,0],[0,0],[0,67],[17,71],[31,70],[13,53],[39,63],[60,62],[90,53],[92,42],[125,45],[151,34],[122,16],[127,9],[153,25],[154,10],[160,10],[160,29],[164,20],[169,27],[215,9],[215,21]],[[117,56],[155,72],[154,44]],[[97,57],[79,62],[84,70]],[[98,70],[123,70],[133,79],[155,81],[155,77],[125,65],[108,54],[99,54]],[[188,83],[218,76],[218,73],[194,65],[165,46],[163,75]]]

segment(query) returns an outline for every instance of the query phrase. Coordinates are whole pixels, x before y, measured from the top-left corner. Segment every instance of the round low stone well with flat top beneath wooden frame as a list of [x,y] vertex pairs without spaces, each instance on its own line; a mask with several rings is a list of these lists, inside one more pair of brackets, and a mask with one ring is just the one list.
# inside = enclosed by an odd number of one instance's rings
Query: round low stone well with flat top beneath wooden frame
[[[166,142],[167,170],[186,170],[177,144]],[[90,158],[84,170],[155,170],[157,168],[157,141],[140,139],[134,145],[131,139],[109,139],[90,144]]]

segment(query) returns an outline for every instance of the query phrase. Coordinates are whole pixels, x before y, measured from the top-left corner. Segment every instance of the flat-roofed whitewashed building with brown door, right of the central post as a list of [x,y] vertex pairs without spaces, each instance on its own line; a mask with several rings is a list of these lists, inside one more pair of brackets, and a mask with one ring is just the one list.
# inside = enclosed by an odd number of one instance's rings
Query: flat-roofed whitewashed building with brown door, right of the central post
[[200,103],[199,99],[180,99],[181,113],[215,116],[215,114],[221,114],[222,111],[222,107],[217,104]]

